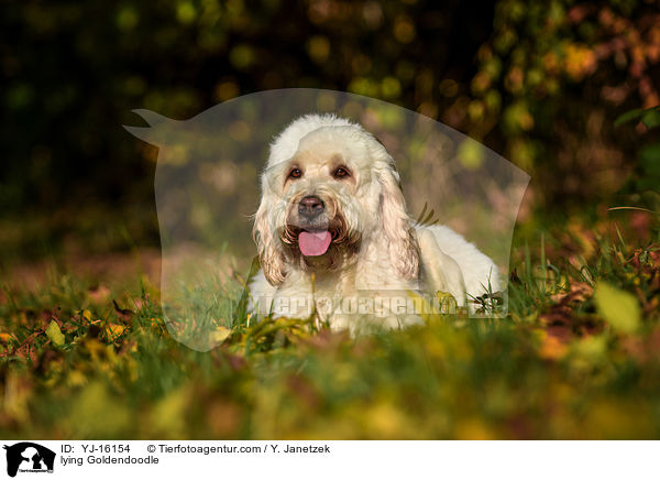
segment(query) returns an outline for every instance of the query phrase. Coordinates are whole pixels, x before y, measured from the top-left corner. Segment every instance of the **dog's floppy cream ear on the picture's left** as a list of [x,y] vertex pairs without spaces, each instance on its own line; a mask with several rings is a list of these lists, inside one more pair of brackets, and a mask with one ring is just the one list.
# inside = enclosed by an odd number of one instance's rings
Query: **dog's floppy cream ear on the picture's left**
[[252,228],[252,237],[256,243],[258,251],[258,260],[264,270],[264,275],[268,283],[273,286],[280,285],[284,282],[284,259],[280,249],[275,244],[275,237],[271,228],[271,219],[268,217],[267,195],[262,196],[262,201],[254,215],[254,227]]

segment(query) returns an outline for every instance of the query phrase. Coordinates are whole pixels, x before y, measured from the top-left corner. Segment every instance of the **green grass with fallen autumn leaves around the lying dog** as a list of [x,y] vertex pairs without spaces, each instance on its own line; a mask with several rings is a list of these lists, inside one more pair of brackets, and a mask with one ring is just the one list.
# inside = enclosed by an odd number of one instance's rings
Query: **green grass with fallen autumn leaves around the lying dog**
[[209,352],[170,337],[146,277],[8,283],[0,436],[658,438],[660,238],[626,236],[518,242],[503,319],[351,338],[241,315]]

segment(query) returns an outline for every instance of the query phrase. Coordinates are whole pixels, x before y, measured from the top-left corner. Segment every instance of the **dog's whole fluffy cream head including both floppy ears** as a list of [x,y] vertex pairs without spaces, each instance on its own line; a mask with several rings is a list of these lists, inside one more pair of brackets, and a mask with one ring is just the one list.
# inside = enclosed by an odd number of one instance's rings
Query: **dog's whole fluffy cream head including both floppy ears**
[[271,284],[280,284],[293,269],[341,270],[383,237],[395,271],[416,277],[417,242],[383,144],[332,116],[302,117],[276,138],[254,221]]

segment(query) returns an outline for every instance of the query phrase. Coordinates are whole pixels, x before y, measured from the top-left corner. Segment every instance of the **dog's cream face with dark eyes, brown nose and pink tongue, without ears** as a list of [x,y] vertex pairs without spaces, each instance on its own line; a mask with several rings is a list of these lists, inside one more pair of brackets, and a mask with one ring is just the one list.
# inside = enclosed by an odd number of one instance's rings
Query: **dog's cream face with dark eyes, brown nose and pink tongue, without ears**
[[[369,153],[320,129],[300,140],[280,166],[285,223],[279,237],[286,258],[302,269],[339,270],[355,260],[364,236],[375,227]],[[279,187],[279,185],[275,185]],[[377,197],[376,197],[377,198]]]

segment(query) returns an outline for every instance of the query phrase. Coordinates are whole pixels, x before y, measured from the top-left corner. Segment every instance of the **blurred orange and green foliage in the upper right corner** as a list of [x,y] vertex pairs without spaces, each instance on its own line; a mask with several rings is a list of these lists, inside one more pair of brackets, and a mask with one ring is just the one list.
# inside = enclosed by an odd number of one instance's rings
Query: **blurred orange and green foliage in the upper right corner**
[[543,178],[537,194],[547,208],[610,199],[638,178],[638,135],[614,119],[660,103],[658,7],[497,3],[492,37],[476,54],[468,128],[495,134],[505,156]]

